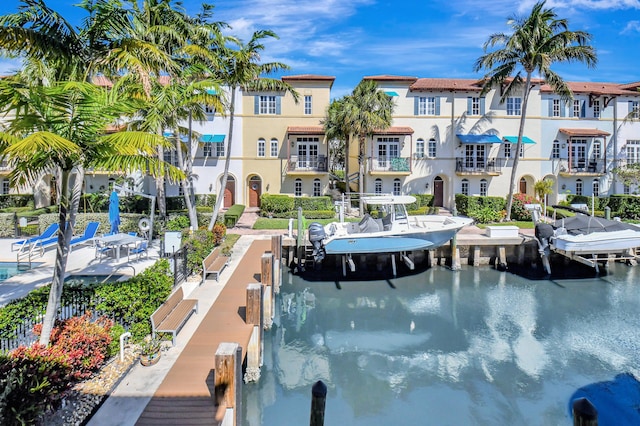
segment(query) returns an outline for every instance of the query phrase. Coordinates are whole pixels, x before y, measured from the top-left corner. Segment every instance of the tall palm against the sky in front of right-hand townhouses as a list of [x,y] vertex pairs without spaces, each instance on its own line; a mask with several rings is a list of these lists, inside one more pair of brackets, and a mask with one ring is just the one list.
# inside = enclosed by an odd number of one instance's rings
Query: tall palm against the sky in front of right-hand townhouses
[[[523,94],[515,152],[522,149],[534,72],[540,74],[563,100],[568,101],[573,98],[573,93],[551,69],[551,65],[556,62],[583,62],[588,67],[594,67],[597,62],[595,49],[588,45],[591,35],[584,31],[570,31],[566,19],[558,19],[553,9],[546,9],[544,6],[545,1],[538,2],[528,17],[509,19],[511,34],[496,33],[489,36],[484,44],[484,51],[488,52],[496,46],[501,48],[482,55],[474,67],[475,71],[489,70],[484,76],[483,94],[492,87],[501,87],[501,102],[514,93]],[[516,155],[511,169],[506,220],[511,219],[518,163],[519,156]]]

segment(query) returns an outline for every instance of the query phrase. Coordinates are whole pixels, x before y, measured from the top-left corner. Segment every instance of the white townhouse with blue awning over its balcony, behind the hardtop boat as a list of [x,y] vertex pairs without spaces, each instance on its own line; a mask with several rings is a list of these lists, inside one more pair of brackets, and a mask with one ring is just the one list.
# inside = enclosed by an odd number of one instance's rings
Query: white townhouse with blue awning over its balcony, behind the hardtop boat
[[[496,90],[481,96],[478,80],[365,78],[375,80],[396,105],[391,127],[369,140],[365,191],[433,194],[436,206],[450,208],[456,193],[504,196],[519,155],[518,190],[533,194],[540,119],[527,120],[524,144],[516,153],[521,96],[504,103]],[[539,110],[536,88],[529,108]]]

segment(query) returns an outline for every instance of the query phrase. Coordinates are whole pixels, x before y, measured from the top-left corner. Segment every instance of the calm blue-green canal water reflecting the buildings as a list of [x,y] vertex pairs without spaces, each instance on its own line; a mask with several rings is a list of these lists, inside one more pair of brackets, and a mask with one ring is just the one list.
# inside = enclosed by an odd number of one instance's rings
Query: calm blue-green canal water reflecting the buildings
[[600,425],[639,424],[640,387],[620,376],[640,377],[639,279],[625,265],[555,281],[489,267],[339,285],[285,272],[245,424],[309,424],[317,380],[326,425],[571,425],[583,395]]

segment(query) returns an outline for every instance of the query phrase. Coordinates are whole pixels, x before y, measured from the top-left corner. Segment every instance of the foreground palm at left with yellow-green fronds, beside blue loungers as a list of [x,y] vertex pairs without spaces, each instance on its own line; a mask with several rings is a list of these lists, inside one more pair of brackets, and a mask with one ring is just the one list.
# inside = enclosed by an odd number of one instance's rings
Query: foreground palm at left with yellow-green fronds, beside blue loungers
[[85,169],[111,172],[147,170],[167,173],[172,179],[182,173],[156,158],[162,138],[146,132],[106,134],[122,113],[137,105],[121,93],[85,82],[66,82],[50,87],[31,86],[10,77],[0,81],[0,112],[15,114],[0,155],[7,159],[13,185],[33,184],[45,173],[60,182],[56,263],[40,343],[49,343],[64,285],[64,275],[73,235]]

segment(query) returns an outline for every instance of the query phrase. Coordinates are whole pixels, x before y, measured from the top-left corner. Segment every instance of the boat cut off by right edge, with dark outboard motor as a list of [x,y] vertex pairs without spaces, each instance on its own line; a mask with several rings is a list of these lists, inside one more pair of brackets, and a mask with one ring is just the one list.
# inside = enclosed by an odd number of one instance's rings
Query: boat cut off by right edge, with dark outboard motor
[[635,260],[635,248],[640,247],[640,228],[563,206],[554,206],[576,213],[553,224],[540,221],[540,213],[532,210],[536,222],[535,235],[545,268],[551,273],[548,256],[553,251],[598,270],[598,262]]

